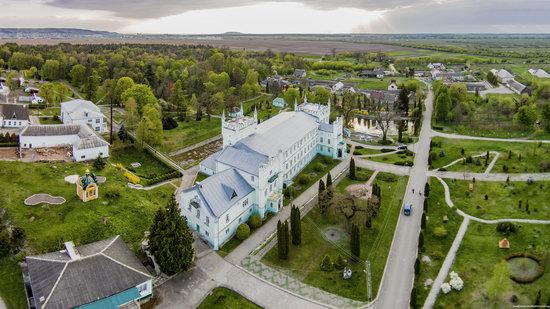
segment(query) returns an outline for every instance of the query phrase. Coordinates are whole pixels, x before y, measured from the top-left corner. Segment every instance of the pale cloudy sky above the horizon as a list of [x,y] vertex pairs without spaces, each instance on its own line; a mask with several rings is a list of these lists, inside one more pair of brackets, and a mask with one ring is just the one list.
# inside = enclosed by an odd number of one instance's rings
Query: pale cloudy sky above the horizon
[[0,0],[0,27],[121,33],[550,33],[550,0]]

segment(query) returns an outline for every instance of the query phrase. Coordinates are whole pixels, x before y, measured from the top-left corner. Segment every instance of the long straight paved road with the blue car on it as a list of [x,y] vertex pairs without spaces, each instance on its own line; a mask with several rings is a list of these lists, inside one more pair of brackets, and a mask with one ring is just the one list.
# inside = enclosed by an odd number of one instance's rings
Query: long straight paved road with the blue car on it
[[[410,292],[414,280],[414,261],[418,247],[422,205],[427,180],[428,155],[430,150],[431,117],[433,109],[433,92],[426,97],[426,110],[423,115],[422,129],[416,151],[414,166],[410,171],[409,184],[404,201],[413,204],[409,217],[401,215],[394,233],[393,243],[380,285],[380,293],[374,303],[375,308],[409,308]],[[412,194],[412,189],[416,194]]]

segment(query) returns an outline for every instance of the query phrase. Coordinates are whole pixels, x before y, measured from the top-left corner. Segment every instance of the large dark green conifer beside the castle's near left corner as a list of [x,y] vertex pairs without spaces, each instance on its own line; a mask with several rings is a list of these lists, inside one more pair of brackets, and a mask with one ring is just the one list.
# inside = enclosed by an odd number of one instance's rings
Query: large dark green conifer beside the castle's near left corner
[[193,235],[180,215],[174,196],[165,209],[159,208],[150,228],[151,254],[163,273],[173,275],[189,269],[193,256]]

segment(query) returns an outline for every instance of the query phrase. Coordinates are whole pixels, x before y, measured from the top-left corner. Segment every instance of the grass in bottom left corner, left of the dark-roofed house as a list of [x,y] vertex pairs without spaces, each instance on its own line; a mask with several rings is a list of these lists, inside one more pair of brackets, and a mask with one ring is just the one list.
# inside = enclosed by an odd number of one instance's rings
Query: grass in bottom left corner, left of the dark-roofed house
[[0,297],[10,309],[27,308],[23,275],[14,258],[0,259]]

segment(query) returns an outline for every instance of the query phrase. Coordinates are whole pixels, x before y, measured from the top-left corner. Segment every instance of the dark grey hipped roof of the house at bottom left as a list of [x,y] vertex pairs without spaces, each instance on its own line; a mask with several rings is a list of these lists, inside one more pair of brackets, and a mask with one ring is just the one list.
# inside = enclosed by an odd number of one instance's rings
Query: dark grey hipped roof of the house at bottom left
[[[120,293],[151,279],[120,236],[65,251],[26,258],[38,309],[73,308]],[[43,301],[41,301],[43,297]]]

